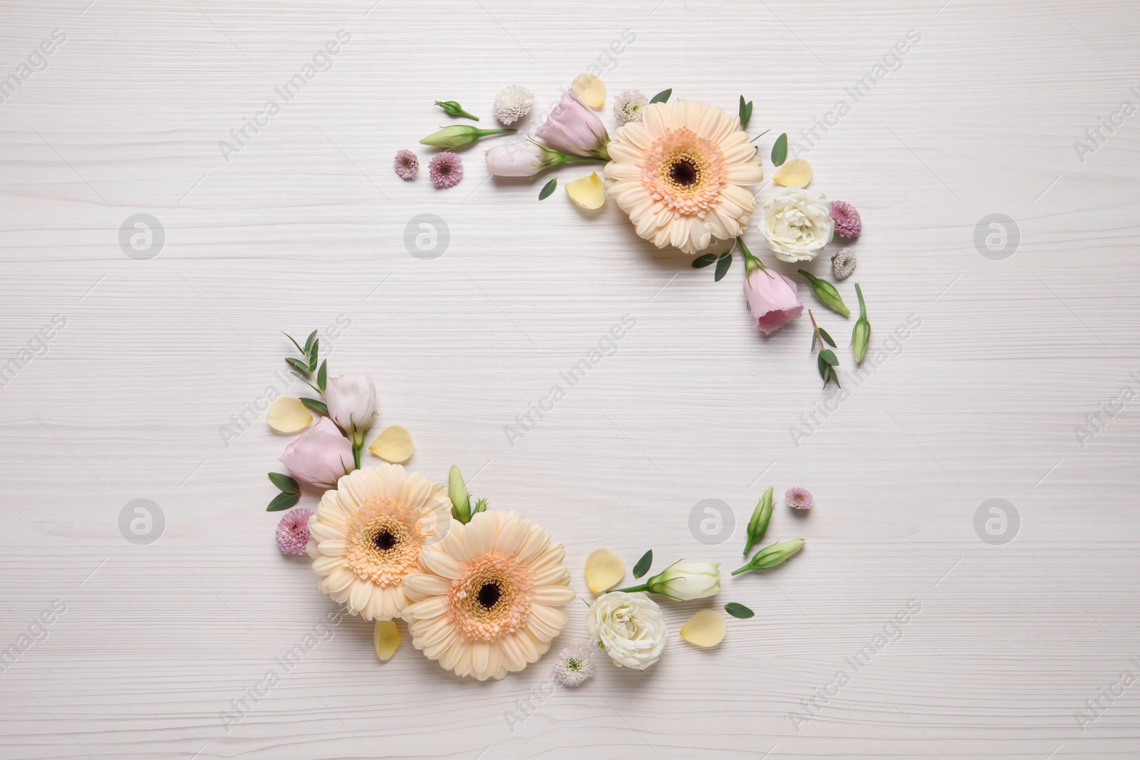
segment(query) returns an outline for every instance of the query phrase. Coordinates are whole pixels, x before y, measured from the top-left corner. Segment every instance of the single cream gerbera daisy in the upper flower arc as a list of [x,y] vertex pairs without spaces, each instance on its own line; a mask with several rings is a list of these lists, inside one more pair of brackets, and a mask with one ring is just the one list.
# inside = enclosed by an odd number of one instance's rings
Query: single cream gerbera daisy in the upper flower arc
[[744,188],[764,170],[736,116],[707,103],[650,104],[608,149],[606,190],[657,247],[693,254],[748,226],[756,199]]

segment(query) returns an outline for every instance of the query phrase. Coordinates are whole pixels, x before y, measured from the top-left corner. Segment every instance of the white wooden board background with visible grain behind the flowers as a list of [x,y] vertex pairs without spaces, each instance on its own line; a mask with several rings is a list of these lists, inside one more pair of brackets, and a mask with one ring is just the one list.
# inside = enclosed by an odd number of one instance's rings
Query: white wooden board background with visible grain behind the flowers
[[[1083,162],[1074,148],[1122,100],[1140,106],[1135,6],[14,0],[0,22],[0,76],[66,36],[0,104],[0,360],[42,354],[0,389],[0,648],[40,639],[0,673],[0,757],[1140,755],[1140,402],[1084,446],[1075,433],[1140,387],[1140,115]],[[219,141],[337,30],[351,41],[333,67],[226,162]],[[840,289],[850,304],[864,286],[882,353],[799,446],[789,428],[831,395],[806,316],[758,336],[739,261],[714,284],[612,203],[591,216],[561,189],[539,203],[539,182],[487,181],[481,147],[447,191],[391,167],[448,123],[432,100],[486,124],[518,82],[540,116],[592,65],[611,95],[671,87],[730,109],[746,95],[750,131],[773,130],[766,155],[909,30],[901,66],[809,152],[813,188],[862,211]],[[164,229],[150,259],[119,244],[138,213]],[[434,260],[404,243],[422,213],[449,230]],[[975,246],[988,214],[1015,220],[1012,256]],[[849,371],[854,317],[816,312]],[[617,353],[510,446],[504,426],[626,313]],[[381,424],[415,435],[410,466],[458,464],[492,507],[546,525],[579,590],[598,546],[731,569],[767,485],[815,493],[768,531],[807,548],[725,580],[715,604],[757,616],[717,648],[676,637],[700,604],[667,604],[659,664],[598,659],[578,690],[548,694],[549,659],[486,684],[407,641],[382,664],[370,626],[347,620],[227,732],[219,713],[334,605],[263,510],[286,439],[259,419],[227,446],[219,428],[285,369],[280,330],[341,314],[331,365],[376,378]],[[149,545],[120,529],[135,499],[164,517]],[[735,512],[723,544],[690,532],[705,499]],[[990,499],[1016,508],[1012,541],[975,530]],[[797,724],[909,600],[921,612],[902,635]],[[584,613],[556,646],[585,641]]]

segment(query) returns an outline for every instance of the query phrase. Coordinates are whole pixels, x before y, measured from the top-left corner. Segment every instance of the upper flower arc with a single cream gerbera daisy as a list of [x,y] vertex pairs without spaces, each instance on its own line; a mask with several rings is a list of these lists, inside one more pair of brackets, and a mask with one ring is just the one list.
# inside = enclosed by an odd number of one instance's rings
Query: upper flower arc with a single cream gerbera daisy
[[[756,328],[765,335],[799,319],[804,304],[798,286],[783,273],[769,269],[744,244],[744,230],[756,211],[756,196],[749,187],[764,180],[763,161],[756,140],[746,131],[752,116],[752,101],[740,96],[736,115],[707,103],[674,100],[673,89],[646,98],[637,90],[626,90],[613,103],[618,124],[611,139],[597,111],[605,105],[605,84],[593,74],[580,74],[565,90],[557,105],[523,139],[496,145],[486,153],[487,170],[504,178],[535,179],[539,174],[572,162],[604,163],[604,179],[597,172],[565,183],[569,198],[586,210],[597,210],[611,198],[629,215],[637,235],[658,248],[671,246],[694,255],[692,265],[715,264],[719,281],[732,267],[739,248],[744,260],[744,296]],[[473,124],[451,124],[420,140],[422,145],[443,148],[431,160],[431,179],[438,188],[448,188],[463,178],[463,161],[456,149],[488,137],[518,132],[534,107],[535,96],[518,84],[495,98],[492,114],[504,129],[480,129]],[[437,100],[447,114],[479,121],[455,100]],[[772,145],[772,163],[779,166],[772,181],[784,189],[763,210],[757,227],[776,259],[787,263],[811,262],[836,236],[854,239],[863,222],[858,211],[842,201],[829,202],[823,193],[807,189],[812,165],[806,158],[788,157],[788,134]],[[396,172],[406,180],[416,177],[416,155],[402,149],[396,155]],[[549,197],[557,178],[547,181],[538,199]],[[730,240],[727,251],[701,253],[720,240]],[[698,255],[700,254],[700,255]],[[855,254],[844,248],[831,258],[836,280],[855,271]],[[798,270],[808,281],[816,300],[847,318],[850,310],[830,281],[805,269]],[[852,329],[856,363],[863,361],[871,337],[863,291],[855,285],[860,318]],[[812,350],[819,344],[816,365],[824,386],[839,385],[836,342],[812,319]]]

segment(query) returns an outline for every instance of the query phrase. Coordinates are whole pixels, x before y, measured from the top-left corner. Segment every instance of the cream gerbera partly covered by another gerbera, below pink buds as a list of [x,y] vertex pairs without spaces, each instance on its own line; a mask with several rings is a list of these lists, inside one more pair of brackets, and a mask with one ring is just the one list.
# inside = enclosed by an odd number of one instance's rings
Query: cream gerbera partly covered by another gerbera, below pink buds
[[398,618],[408,604],[405,579],[422,572],[424,545],[447,534],[450,509],[447,487],[400,465],[341,477],[309,518],[318,588],[365,620]]

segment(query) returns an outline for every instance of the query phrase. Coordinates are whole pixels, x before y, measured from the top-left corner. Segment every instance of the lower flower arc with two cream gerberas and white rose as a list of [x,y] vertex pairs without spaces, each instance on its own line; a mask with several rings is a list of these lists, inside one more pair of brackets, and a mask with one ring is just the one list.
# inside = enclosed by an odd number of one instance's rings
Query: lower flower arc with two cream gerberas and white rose
[[[316,330],[303,345],[290,341],[300,357],[286,361],[319,398],[282,395],[268,411],[274,431],[301,433],[280,457],[288,474],[269,473],[280,492],[268,510],[288,510],[277,525],[280,550],[308,555],[317,588],[350,614],[373,621],[382,661],[402,641],[396,623],[402,619],[413,646],[457,676],[500,679],[537,662],[565,628],[563,607],[576,597],[563,546],[516,510],[489,509],[487,499],[473,502],[458,467],[450,468],[447,485],[405,469],[414,444],[399,425],[385,427],[368,446],[382,464],[361,467],[377,416],[375,384],[367,375],[328,377]],[[323,491],[316,510],[293,508],[302,485]],[[748,522],[746,556],[767,530],[773,491],[765,491]],[[804,489],[789,489],[785,498],[796,509],[812,506]],[[732,574],[774,567],[804,544],[767,546]],[[652,563],[649,550],[634,566],[634,578],[644,578]],[[682,559],[642,583],[611,590],[625,577],[625,563],[600,548],[586,558],[585,571],[589,589],[600,595],[588,605],[586,632],[614,664],[634,670],[656,663],[668,638],[650,595],[692,600],[720,591],[719,563]],[[739,603],[724,610],[739,619],[754,616]],[[726,629],[719,611],[703,608],[679,635],[710,647]],[[593,672],[592,654],[587,647],[565,647],[555,677],[578,686]]]

